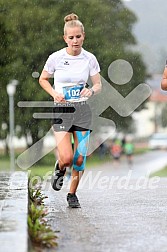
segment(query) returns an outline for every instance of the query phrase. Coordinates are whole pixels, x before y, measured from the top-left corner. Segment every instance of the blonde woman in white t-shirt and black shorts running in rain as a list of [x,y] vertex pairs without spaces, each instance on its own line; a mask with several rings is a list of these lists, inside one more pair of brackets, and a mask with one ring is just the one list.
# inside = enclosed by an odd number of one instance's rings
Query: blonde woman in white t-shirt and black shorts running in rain
[[[76,196],[83,174],[90,135],[91,110],[86,100],[101,90],[100,67],[96,57],[83,49],[84,26],[76,14],[64,18],[64,41],[67,47],[52,53],[47,59],[39,78],[42,88],[54,100],[53,130],[57,143],[58,160],[52,177],[52,187],[58,191],[63,185],[66,167],[73,167],[70,190],[67,194],[69,207],[80,207]],[[49,79],[54,75],[54,86]],[[90,77],[92,88],[86,83]],[[61,114],[57,117],[57,114]],[[71,144],[74,137],[74,151]]]

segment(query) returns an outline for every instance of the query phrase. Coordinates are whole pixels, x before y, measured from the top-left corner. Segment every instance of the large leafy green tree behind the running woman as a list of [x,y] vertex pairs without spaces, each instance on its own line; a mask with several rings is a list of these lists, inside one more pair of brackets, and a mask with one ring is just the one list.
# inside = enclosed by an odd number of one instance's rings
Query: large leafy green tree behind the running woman
[[[129,49],[129,45],[135,44],[132,27],[136,17],[122,1],[1,0],[0,3],[3,9],[1,33],[5,33],[6,41],[2,51],[7,46],[6,55],[2,58],[2,71],[7,72],[7,75],[3,74],[1,83],[1,98],[5,97],[5,109],[1,110],[0,123],[8,123],[7,97],[4,90],[11,76],[20,83],[17,87],[16,104],[20,100],[51,100],[39,86],[38,79],[32,77],[32,73],[41,72],[49,54],[65,46],[62,39],[63,17],[71,12],[77,13],[83,22],[86,31],[84,47],[97,56],[101,65],[101,75],[105,79],[110,81],[107,74],[110,63],[116,59],[125,59],[133,67],[133,79],[126,87],[114,83],[112,85],[125,96],[136,85],[144,82],[146,69],[141,56]],[[32,117],[37,109],[17,106],[15,109],[16,124],[21,126],[24,135],[31,134],[31,144],[37,142],[49,130],[50,123],[47,120],[36,120]],[[126,128],[127,122],[131,120],[126,118],[126,123],[123,124],[122,118],[111,108],[105,111],[104,116],[114,116],[121,129]]]

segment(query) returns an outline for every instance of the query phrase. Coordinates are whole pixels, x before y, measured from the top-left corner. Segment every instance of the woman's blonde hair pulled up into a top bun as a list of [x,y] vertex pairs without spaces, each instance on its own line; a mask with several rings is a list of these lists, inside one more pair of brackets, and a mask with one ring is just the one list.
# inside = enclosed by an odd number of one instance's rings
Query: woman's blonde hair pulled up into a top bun
[[71,13],[71,14],[65,16],[64,22],[65,22],[64,34],[66,34],[68,27],[71,28],[71,27],[76,27],[76,26],[79,26],[81,28],[81,31],[84,32],[84,26],[81,23],[81,21],[79,21],[78,16],[76,14]]

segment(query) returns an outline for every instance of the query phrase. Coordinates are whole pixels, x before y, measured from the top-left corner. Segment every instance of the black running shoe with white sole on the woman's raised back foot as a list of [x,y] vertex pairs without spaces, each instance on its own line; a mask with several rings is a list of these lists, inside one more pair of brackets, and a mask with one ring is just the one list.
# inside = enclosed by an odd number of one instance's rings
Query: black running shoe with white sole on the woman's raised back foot
[[66,172],[66,168],[62,171],[59,169],[59,163],[56,161],[54,174],[51,178],[51,185],[55,191],[61,190],[63,186],[63,177]]

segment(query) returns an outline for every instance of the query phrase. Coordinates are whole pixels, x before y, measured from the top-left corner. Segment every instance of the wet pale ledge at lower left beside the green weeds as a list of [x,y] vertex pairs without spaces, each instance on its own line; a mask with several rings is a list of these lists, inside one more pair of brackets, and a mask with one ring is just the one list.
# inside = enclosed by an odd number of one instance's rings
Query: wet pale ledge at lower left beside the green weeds
[[28,176],[0,173],[0,251],[27,252]]

